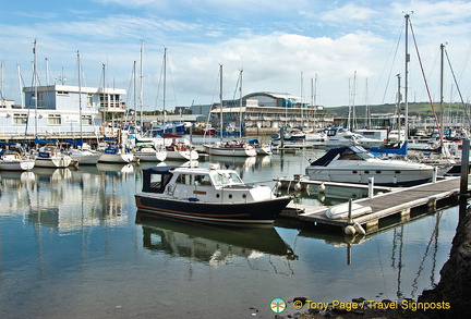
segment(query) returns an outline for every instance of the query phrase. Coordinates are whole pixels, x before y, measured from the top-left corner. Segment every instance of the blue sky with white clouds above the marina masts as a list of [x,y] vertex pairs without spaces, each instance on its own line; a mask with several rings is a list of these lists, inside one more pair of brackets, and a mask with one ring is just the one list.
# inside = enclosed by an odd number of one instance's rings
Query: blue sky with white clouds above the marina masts
[[[463,99],[471,95],[471,2],[387,0],[0,0],[0,61],[5,98],[20,101],[19,68],[32,85],[37,40],[40,83],[124,88],[133,103],[133,64],[144,41],[144,109],[161,109],[164,48],[168,50],[167,108],[243,94],[288,93],[326,107],[395,102],[404,73],[404,14],[410,13],[431,96],[439,100],[440,44]],[[427,100],[409,32],[409,101]],[[46,59],[49,61],[46,63]],[[445,100],[459,101],[445,59]],[[49,65],[47,68],[46,65]],[[47,70],[48,69],[48,70]],[[138,66],[137,66],[138,69]],[[316,81],[313,81],[317,78]],[[403,88],[402,88],[403,90]]]

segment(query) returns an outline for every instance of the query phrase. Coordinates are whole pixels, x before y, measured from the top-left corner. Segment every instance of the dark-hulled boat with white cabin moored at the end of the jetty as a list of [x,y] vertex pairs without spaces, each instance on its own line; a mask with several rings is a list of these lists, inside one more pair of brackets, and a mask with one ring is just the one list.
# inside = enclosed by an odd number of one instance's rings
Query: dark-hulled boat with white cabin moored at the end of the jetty
[[143,170],[140,210],[210,223],[271,224],[290,203],[268,186],[245,185],[232,170],[155,167]]

